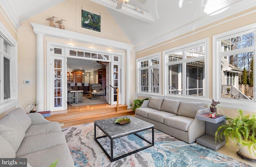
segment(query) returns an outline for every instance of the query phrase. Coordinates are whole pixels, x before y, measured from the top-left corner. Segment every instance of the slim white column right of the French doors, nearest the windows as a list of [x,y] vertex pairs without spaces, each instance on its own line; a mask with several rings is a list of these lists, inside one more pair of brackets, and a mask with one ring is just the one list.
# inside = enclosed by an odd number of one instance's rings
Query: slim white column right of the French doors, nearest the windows
[[126,50],[126,105],[130,105],[130,50]]

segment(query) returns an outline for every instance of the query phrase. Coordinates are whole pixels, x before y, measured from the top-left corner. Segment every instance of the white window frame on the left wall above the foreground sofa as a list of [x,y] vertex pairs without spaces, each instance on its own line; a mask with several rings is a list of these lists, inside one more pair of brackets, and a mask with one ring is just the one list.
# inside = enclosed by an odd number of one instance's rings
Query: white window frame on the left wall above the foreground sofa
[[[0,82],[0,114],[18,107],[18,46],[12,34],[0,22],[0,80],[4,80],[4,57],[10,60],[10,98],[4,99],[4,82]],[[4,52],[4,40],[10,44],[9,54]]]

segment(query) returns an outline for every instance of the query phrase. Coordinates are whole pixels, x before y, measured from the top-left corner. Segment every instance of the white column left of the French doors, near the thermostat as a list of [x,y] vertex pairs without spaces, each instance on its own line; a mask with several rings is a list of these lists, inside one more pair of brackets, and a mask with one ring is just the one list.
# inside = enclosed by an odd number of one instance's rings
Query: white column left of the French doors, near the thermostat
[[36,99],[38,111],[44,111],[44,34],[36,34]]

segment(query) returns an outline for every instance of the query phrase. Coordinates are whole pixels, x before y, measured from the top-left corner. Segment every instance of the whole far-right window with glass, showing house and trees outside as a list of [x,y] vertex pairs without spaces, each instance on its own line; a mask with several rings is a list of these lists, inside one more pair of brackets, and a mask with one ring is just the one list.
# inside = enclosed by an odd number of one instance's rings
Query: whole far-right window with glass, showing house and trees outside
[[213,37],[214,99],[230,108],[255,109],[256,24]]

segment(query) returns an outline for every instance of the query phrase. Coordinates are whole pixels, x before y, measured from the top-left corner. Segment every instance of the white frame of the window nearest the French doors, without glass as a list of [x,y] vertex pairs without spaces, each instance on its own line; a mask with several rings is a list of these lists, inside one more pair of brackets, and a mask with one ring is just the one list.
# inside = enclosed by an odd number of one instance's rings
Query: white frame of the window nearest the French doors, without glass
[[[136,83],[137,85],[136,85],[136,87],[137,87],[137,92],[144,93],[144,94],[154,94],[154,95],[160,94],[160,92],[161,92],[161,64],[160,64],[160,55],[161,55],[161,53],[158,52],[158,53],[155,53],[155,54],[151,54],[151,55],[145,56],[143,58],[136,59],[136,64],[137,64],[137,68],[136,68],[136,78],[137,78],[137,83]],[[157,65],[152,65],[152,66],[149,65],[147,67],[140,67],[140,62],[143,62],[143,61],[146,61],[146,60],[150,60],[152,58],[158,58],[159,63]],[[148,87],[149,87],[148,88],[148,92],[140,91],[140,87],[141,87],[140,71],[141,70],[150,70],[151,68],[156,68],[156,67],[159,68],[159,81],[158,81],[159,87],[158,87],[158,93],[151,92],[151,73],[150,73],[150,71],[148,73],[149,74],[149,76],[148,76]]]

